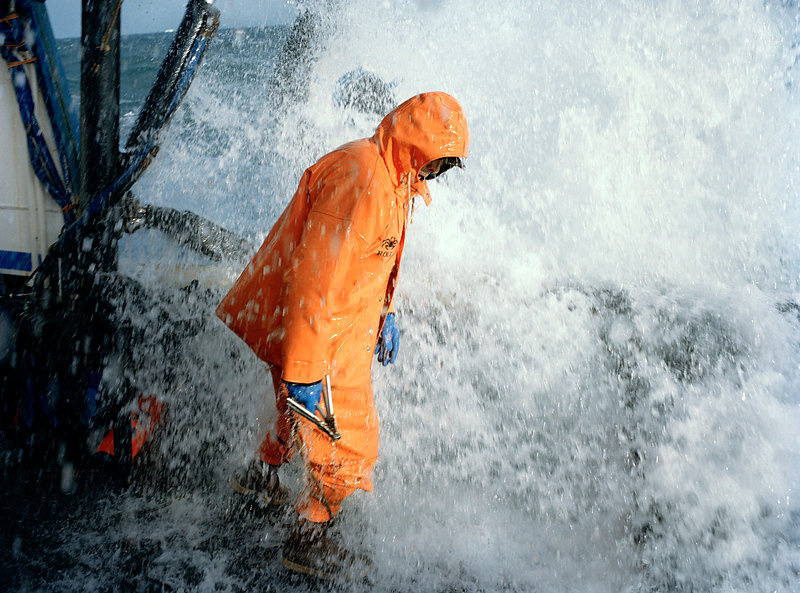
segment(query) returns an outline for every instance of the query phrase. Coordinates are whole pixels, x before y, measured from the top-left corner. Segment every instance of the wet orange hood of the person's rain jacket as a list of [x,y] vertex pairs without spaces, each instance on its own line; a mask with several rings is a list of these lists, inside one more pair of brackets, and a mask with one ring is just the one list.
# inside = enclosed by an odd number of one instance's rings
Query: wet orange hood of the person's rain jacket
[[469,130],[461,105],[447,93],[422,93],[383,118],[372,141],[378,145],[389,175],[399,185],[410,173],[412,187],[430,203],[419,170],[442,157],[466,158]]

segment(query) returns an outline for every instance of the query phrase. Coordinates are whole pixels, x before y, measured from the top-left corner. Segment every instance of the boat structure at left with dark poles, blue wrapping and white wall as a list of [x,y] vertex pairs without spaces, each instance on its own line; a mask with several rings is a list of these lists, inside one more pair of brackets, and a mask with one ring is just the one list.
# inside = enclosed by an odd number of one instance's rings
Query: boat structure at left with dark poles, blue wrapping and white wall
[[121,143],[120,4],[83,0],[77,102],[45,4],[0,0],[0,444],[21,459],[82,466],[100,458],[124,473],[164,404],[107,372],[126,364],[124,336],[135,339],[120,299],[158,306],[119,273],[119,239],[155,228],[217,261],[250,246],[132,191],[217,31],[218,10],[189,0]]

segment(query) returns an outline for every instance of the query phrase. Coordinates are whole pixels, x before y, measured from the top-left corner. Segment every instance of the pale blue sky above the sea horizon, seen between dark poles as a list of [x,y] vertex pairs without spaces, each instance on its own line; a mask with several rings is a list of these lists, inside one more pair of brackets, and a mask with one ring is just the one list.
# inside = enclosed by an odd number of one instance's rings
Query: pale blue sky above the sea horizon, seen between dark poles
[[[291,0],[216,0],[222,27],[290,24],[297,13]],[[47,0],[47,12],[56,37],[78,37],[81,0]],[[186,0],[125,0],[122,34],[176,29],[186,10]]]

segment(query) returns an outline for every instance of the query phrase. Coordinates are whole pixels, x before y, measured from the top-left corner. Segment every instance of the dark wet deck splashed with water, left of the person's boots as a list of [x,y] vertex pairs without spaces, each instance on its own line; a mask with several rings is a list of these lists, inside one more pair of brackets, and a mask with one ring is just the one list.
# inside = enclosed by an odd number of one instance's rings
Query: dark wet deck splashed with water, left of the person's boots
[[[337,590],[283,569],[288,509],[243,503],[225,484],[129,485],[55,472],[6,475],[2,591]],[[353,583],[350,583],[353,585]]]

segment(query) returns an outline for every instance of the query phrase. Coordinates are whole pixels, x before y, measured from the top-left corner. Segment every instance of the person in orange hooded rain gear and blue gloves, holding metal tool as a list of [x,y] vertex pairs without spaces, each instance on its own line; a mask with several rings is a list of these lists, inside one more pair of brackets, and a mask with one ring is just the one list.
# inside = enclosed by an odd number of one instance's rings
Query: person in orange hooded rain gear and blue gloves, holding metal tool
[[[356,140],[308,168],[289,205],[217,308],[217,315],[269,363],[278,418],[258,457],[232,485],[283,502],[277,467],[300,450],[308,487],[283,564],[323,574],[338,552],[325,535],[342,501],[371,491],[378,415],[370,369],[397,355],[393,296],[406,225],[427,180],[467,156],[469,133],[458,102],[423,93],[394,109],[371,138]],[[287,395],[316,409],[330,378],[341,439],[287,409]],[[345,559],[339,554],[340,560]],[[333,559],[333,560],[332,560]]]

